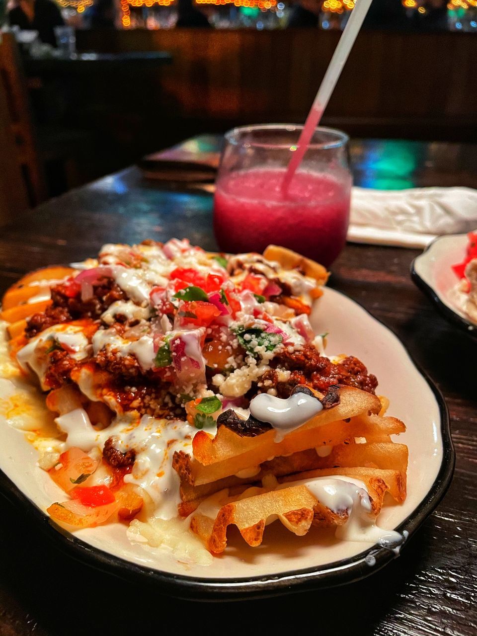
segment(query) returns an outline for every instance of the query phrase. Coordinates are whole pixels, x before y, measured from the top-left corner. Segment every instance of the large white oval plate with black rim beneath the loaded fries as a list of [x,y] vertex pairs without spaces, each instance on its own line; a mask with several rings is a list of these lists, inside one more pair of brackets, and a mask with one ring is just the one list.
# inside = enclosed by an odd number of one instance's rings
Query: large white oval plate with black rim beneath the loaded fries
[[[399,441],[410,452],[408,496],[402,505],[385,506],[379,524],[411,535],[436,507],[452,477],[454,453],[443,398],[397,337],[338,291],[326,289],[312,324],[317,333],[329,331],[329,354],[352,354],[377,375],[378,393],[391,401],[389,415],[407,426]],[[56,487],[36,466],[36,450],[4,419],[0,420],[0,469],[0,491],[22,504],[31,523],[43,527],[60,548],[137,583],[153,582],[177,597],[218,600],[333,586],[368,576],[396,556],[381,546],[338,541],[322,530],[296,537],[273,523],[258,548],[249,548],[232,532],[225,555],[214,558],[212,565],[184,565],[165,551],[131,544],[120,524],[74,535],[53,524],[45,509],[57,501]]]

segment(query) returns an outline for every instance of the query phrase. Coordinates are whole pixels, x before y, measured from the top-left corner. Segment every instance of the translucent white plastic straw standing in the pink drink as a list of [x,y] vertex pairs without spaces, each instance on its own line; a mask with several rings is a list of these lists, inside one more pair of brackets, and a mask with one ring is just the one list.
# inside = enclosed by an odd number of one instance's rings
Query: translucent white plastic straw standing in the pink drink
[[343,66],[345,66],[346,60],[348,59],[352,46],[354,45],[354,41],[356,40],[356,36],[359,33],[359,29],[361,29],[366,13],[368,13],[371,2],[372,0],[356,0],[356,5],[351,11],[347,25],[345,26],[340,41],[338,42],[338,46],[336,46],[335,53],[333,53],[331,62],[329,62],[328,69],[326,69],[326,73],[324,74],[323,81],[321,82],[321,86],[317,92],[310,113],[308,113],[307,121],[305,121],[305,127],[303,127],[300,139],[298,139],[297,149],[294,151],[288,164],[282,184],[282,190],[284,192],[287,192],[291,179],[293,179],[293,175],[300,165],[303,155],[305,155],[305,151],[308,148],[308,144],[313,137],[315,128],[321,120],[323,111],[326,106],[328,106],[329,98],[331,97],[333,90],[335,90],[336,82],[341,75]]

